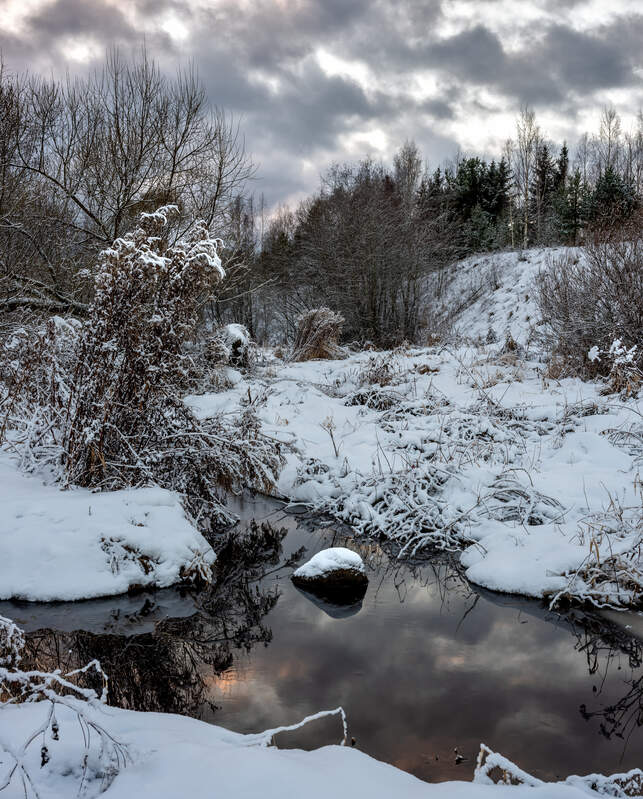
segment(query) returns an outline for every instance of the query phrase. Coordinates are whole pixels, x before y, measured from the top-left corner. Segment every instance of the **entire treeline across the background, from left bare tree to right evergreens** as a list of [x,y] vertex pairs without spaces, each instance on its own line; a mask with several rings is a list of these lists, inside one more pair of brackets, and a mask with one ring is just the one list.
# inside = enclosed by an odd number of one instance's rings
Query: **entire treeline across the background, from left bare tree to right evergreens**
[[[337,164],[296,208],[253,196],[242,131],[191,71],[164,75],[117,52],[82,78],[0,70],[0,320],[82,317],[98,254],[141,211],[175,204],[177,239],[196,219],[223,239],[228,279],[205,297],[207,325],[241,322],[261,342],[292,337],[327,306],[349,341],[417,341],[454,260],[477,252],[582,244],[640,207],[643,115],[612,108],[573,148],[523,109],[493,160],[428,169],[412,140],[390,165]],[[206,326],[207,326],[206,325]]]

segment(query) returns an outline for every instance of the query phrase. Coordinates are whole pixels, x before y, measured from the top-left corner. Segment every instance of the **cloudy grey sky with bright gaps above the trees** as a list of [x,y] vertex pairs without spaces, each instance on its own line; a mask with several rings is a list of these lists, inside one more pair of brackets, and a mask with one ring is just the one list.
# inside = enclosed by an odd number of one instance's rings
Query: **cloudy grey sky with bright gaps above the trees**
[[493,155],[531,105],[554,140],[643,105],[640,0],[0,0],[5,66],[83,71],[145,42],[242,120],[270,204],[414,139]]

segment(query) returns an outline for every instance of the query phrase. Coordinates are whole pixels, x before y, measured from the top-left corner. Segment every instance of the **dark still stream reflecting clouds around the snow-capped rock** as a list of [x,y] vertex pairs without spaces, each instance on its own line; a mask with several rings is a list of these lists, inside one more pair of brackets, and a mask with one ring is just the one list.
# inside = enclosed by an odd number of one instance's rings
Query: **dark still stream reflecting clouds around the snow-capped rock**
[[[0,602],[0,614],[28,632],[41,667],[99,658],[114,704],[244,733],[341,705],[357,748],[429,781],[470,780],[481,742],[547,780],[642,765],[643,641],[626,626],[640,617],[549,612],[470,585],[447,556],[400,564],[266,498],[233,509],[242,527],[272,528],[228,553],[216,590]],[[362,602],[333,606],[290,582],[293,553],[330,545],[364,557]],[[276,742],[341,735],[332,717]]]

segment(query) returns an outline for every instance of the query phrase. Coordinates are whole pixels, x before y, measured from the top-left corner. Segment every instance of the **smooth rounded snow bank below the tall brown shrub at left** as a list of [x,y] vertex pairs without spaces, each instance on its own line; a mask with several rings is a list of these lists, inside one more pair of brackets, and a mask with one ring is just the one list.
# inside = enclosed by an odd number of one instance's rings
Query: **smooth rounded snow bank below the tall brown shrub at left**
[[179,497],[158,487],[61,491],[0,452],[0,599],[87,599],[166,587],[215,554]]

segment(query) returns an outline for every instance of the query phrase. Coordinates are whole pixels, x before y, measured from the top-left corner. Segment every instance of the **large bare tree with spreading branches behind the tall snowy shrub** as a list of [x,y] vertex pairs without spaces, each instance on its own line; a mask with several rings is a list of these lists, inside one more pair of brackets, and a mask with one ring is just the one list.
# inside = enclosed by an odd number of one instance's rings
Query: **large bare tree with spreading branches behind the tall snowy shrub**
[[169,79],[145,51],[127,61],[114,50],[82,79],[0,72],[0,103],[14,109],[0,123],[8,309],[82,313],[92,283],[79,273],[142,211],[174,203],[175,236],[195,218],[221,234],[253,171],[238,124],[210,107],[195,71]]

